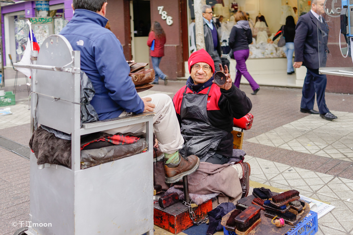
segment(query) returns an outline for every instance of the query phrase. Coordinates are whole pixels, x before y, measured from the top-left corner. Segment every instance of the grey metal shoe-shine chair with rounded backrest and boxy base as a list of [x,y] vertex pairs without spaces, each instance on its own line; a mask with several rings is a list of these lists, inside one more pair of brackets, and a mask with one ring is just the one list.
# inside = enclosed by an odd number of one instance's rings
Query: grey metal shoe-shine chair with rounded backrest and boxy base
[[[37,165],[30,156],[28,235],[153,235],[154,113],[85,123],[80,126],[80,51],[51,35],[31,65],[32,131],[38,124],[71,134],[72,167]],[[148,150],[113,162],[80,169],[80,136],[145,123]],[[41,224],[48,224],[46,227]],[[49,226],[49,223],[51,226]]]

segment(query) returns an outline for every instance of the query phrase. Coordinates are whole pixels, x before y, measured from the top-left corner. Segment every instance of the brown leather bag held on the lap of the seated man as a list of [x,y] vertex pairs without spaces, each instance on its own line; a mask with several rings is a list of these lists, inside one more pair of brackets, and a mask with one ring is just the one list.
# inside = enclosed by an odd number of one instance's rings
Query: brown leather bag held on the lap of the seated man
[[127,63],[130,66],[129,76],[131,76],[137,92],[145,91],[154,86],[149,83],[154,81],[155,72],[154,69],[145,68],[148,63],[136,63],[134,61],[128,61]]

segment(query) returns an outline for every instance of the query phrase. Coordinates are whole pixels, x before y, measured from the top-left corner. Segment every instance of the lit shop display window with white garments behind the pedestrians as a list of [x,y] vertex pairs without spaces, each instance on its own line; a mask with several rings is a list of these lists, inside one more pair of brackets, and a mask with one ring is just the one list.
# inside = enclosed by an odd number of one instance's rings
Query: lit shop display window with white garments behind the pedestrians
[[[301,5],[308,4],[304,0],[299,0],[299,2]],[[288,16],[292,16],[297,23],[298,0],[206,0],[206,4],[213,9],[214,22],[221,18],[221,27],[218,32],[224,52],[229,50],[227,49],[229,35],[232,27],[236,24],[234,14],[241,10],[249,13],[249,24],[253,35],[253,43],[249,45],[249,58],[286,57],[283,47],[277,46],[280,37],[273,43],[271,41],[281,26],[286,24]],[[189,0],[189,23],[193,20],[191,10],[193,11],[193,0]],[[305,10],[305,7],[300,8],[300,12]],[[190,44],[192,45],[192,43]]]

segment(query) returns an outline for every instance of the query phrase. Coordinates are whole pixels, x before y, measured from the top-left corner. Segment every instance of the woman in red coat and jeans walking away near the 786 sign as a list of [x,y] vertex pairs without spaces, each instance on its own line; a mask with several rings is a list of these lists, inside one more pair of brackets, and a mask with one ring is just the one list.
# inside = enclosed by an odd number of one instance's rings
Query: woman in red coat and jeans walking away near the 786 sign
[[[153,41],[154,47],[152,47]],[[152,84],[158,84],[158,78],[164,80],[164,85],[167,85],[168,83],[168,76],[159,68],[159,63],[161,62],[162,56],[164,56],[164,44],[166,44],[166,33],[164,33],[161,24],[154,21],[147,40],[147,45],[152,47],[150,55],[152,57],[152,66],[155,70],[156,76]]]

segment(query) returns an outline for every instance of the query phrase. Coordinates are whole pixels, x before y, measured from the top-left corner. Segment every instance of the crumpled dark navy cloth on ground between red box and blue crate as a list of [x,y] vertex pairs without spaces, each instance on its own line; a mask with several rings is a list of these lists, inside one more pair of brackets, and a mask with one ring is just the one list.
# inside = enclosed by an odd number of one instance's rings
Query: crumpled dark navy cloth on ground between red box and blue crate
[[215,209],[208,212],[209,224],[206,234],[213,235],[216,231],[223,231],[221,224],[222,217],[234,210],[236,207],[233,203],[223,202]]

